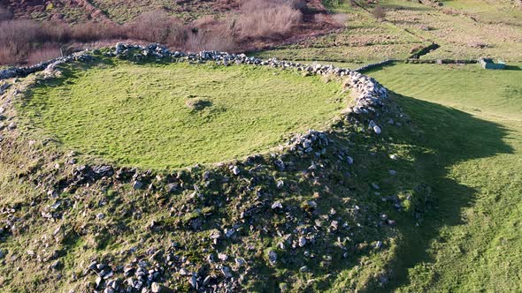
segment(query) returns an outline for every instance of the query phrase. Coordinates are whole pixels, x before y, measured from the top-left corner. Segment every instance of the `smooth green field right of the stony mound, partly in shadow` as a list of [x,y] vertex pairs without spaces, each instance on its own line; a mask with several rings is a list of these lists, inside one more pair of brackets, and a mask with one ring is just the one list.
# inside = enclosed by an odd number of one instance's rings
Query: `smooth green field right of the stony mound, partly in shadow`
[[371,73],[422,100],[402,103],[437,153],[419,156],[432,166],[418,176],[434,203],[419,229],[403,225],[389,289],[522,289],[522,71],[513,69],[399,64]]

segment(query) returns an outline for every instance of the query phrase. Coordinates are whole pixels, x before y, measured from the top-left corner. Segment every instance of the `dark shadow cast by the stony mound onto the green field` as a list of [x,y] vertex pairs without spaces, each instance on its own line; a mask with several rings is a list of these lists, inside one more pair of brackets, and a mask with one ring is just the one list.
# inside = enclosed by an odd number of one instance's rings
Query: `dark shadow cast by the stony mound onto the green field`
[[[502,125],[480,120],[468,113],[428,101],[398,96],[396,99],[412,124],[418,127],[418,135],[396,136],[401,143],[414,146],[416,162],[410,172],[418,172],[419,186],[429,186],[430,192],[421,189],[418,202],[420,219],[414,215],[400,215],[397,228],[403,237],[395,259],[388,263],[391,278],[385,291],[393,291],[408,284],[408,269],[419,263],[434,262],[427,252],[434,239],[444,241],[439,230],[446,226],[464,223],[461,213],[464,207],[472,207],[476,190],[459,184],[448,177],[449,169],[458,162],[487,158],[495,154],[510,154],[512,149],[503,142],[508,130]],[[426,152],[423,150],[431,150]],[[424,206],[424,207],[423,207]],[[415,227],[415,223],[420,225]],[[436,274],[436,272],[435,272]],[[436,275],[431,282],[436,281]],[[429,285],[428,285],[429,286]],[[378,287],[370,290],[382,291]]]

